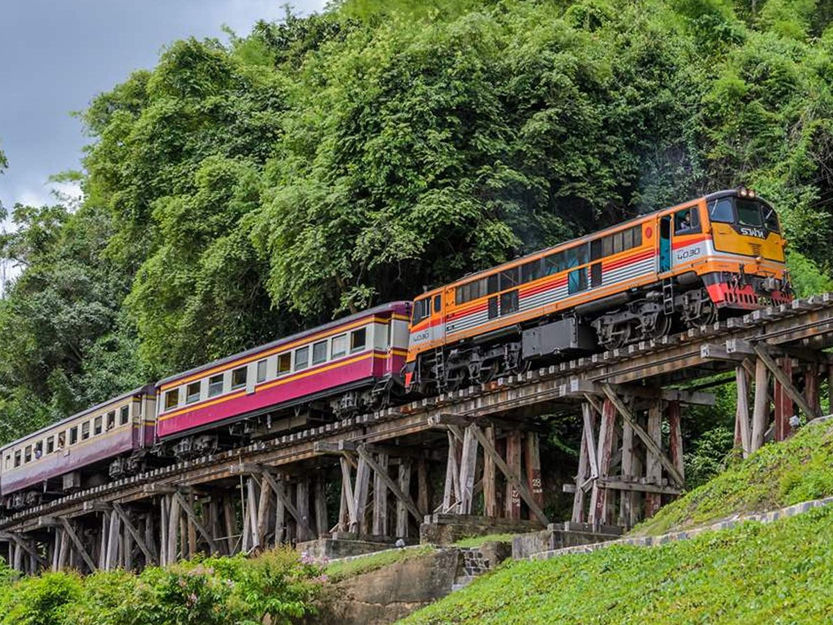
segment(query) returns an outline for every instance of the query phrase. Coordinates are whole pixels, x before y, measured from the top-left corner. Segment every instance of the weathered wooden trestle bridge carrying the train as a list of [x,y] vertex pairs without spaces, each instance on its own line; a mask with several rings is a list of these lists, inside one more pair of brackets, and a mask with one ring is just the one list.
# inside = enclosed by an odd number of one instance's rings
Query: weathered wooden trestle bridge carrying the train
[[751,453],[821,414],[830,346],[833,293],[72,493],[2,517],[0,554],[23,572],[137,569],[322,536],[412,542],[432,512],[564,520],[543,511],[536,418],[554,413],[583,425],[571,520],[631,526],[684,488],[686,404],[735,380]]

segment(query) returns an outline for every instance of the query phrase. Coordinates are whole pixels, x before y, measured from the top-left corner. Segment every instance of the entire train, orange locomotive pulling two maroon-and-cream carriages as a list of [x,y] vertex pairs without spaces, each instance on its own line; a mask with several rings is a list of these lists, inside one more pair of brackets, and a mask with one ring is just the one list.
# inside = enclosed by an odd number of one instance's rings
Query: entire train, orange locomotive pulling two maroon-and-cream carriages
[[710,193],[133,389],[0,448],[0,513],[147,468],[792,300],[786,240]]

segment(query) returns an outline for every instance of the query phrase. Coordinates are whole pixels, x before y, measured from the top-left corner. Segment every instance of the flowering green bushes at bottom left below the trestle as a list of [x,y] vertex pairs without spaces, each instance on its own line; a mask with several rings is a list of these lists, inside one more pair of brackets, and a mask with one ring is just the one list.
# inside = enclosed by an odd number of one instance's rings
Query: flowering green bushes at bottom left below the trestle
[[[0,567],[2,625],[254,625],[316,613],[322,568],[291,549],[197,558],[139,575],[44,573],[13,582]],[[5,579],[4,579],[5,577]]]

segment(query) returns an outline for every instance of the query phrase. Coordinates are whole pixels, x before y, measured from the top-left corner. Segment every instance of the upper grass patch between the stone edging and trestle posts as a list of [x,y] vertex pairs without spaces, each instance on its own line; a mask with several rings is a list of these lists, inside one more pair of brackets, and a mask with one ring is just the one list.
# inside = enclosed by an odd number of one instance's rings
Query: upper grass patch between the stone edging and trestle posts
[[709,483],[687,493],[631,535],[705,525],[833,495],[833,424],[816,423],[784,443],[770,443]]

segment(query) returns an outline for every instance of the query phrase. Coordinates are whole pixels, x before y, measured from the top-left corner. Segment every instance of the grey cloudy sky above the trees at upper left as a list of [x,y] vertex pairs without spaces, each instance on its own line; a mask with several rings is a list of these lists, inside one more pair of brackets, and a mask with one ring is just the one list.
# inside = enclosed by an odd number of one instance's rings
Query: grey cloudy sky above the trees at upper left
[[[293,0],[296,13],[324,0]],[[0,8],[0,148],[9,169],[0,202],[51,199],[47,178],[80,169],[88,142],[70,112],[153,67],[162,47],[182,37],[223,37],[222,25],[246,34],[258,19],[282,17],[283,0],[2,0]]]

